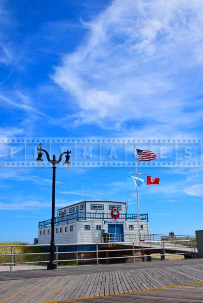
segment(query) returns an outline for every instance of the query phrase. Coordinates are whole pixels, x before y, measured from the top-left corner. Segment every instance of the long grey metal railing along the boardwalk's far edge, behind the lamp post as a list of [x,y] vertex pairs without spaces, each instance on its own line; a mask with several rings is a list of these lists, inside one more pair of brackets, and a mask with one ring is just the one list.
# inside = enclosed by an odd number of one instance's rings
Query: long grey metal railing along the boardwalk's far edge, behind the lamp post
[[[75,251],[59,251],[60,246],[76,246],[78,248],[81,248],[81,246],[84,245],[92,245],[94,249],[90,250],[75,250]],[[104,246],[107,245],[107,246]],[[110,245],[110,246],[109,246]],[[143,247],[143,245],[145,247]],[[12,271],[12,267],[15,265],[21,265],[21,264],[46,264],[49,262],[49,255],[50,252],[28,252],[28,253],[14,253],[14,248],[21,248],[21,247],[42,247],[42,248],[49,248],[50,244],[42,244],[42,245],[0,245],[0,258],[6,257],[7,261],[10,259],[10,262],[1,262],[0,266],[7,265],[10,266],[10,270]],[[135,262],[136,258],[142,258],[144,259],[151,259],[151,258],[157,258],[159,257],[161,260],[165,260],[167,256],[173,256],[173,255],[190,255],[192,258],[196,258],[197,248],[195,247],[195,241],[194,240],[169,240],[169,241],[145,241],[145,243],[141,241],[135,241],[135,242],[116,242],[116,243],[73,243],[73,244],[56,244],[56,261],[58,263],[63,262],[90,262],[95,261],[97,265],[99,265],[102,260],[108,260],[111,259],[133,259]],[[2,248],[10,248],[9,254],[1,254]],[[107,249],[108,248],[108,249]],[[34,250],[34,249],[33,249]],[[147,251],[149,251],[147,253]],[[170,251],[170,252],[167,252]],[[105,253],[105,256],[104,256]],[[113,256],[112,256],[113,253]],[[146,254],[147,253],[147,254]],[[72,256],[71,256],[72,254]],[[88,254],[90,257],[79,259],[79,255],[81,254]],[[92,256],[93,254],[93,256]],[[137,255],[138,254],[138,255]],[[110,255],[110,257],[109,257]],[[25,256],[24,260],[16,260],[20,256]],[[32,258],[35,256],[39,256],[38,260],[33,260]],[[60,259],[60,256],[62,259]],[[65,256],[70,256],[72,258],[65,258]],[[29,261],[27,260],[27,257],[29,257]],[[31,257],[31,258],[30,258]],[[46,260],[44,260],[46,257]],[[39,260],[40,259],[40,260]],[[1,259],[0,259],[1,260]],[[1,268],[0,268],[1,270]]]

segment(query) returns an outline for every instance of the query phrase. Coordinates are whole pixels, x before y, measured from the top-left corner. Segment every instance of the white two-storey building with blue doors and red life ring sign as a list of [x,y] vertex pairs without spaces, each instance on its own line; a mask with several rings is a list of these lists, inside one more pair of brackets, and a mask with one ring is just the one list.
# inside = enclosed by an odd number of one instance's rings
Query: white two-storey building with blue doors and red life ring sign
[[[140,214],[140,233],[149,233],[148,214]],[[126,202],[81,201],[57,211],[57,244],[123,242],[135,235],[138,235],[138,216],[127,214]],[[49,244],[50,240],[51,220],[39,222],[38,244]]]

